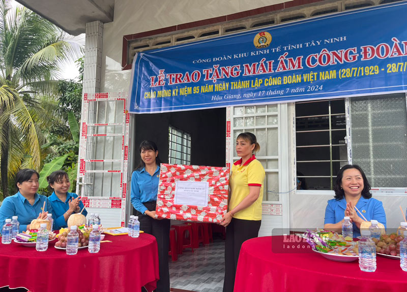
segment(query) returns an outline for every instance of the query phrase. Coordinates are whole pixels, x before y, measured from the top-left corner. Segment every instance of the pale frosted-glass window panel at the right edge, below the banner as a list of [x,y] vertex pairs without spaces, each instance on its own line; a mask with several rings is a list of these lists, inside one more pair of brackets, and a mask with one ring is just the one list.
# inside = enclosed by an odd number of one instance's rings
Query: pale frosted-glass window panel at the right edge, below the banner
[[407,185],[405,93],[350,99],[352,163],[372,187]]

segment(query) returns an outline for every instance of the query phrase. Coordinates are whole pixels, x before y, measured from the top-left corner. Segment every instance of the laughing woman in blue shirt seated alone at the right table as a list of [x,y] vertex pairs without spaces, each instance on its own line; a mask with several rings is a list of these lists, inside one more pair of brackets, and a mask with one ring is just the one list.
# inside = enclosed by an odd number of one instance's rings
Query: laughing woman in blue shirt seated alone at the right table
[[367,220],[377,220],[386,228],[383,204],[372,198],[370,184],[359,166],[342,167],[336,177],[334,190],[335,199],[329,200],[325,209],[325,229],[340,232],[343,217],[348,216],[353,223],[353,236],[360,236],[360,224],[364,219],[356,209],[362,212]]

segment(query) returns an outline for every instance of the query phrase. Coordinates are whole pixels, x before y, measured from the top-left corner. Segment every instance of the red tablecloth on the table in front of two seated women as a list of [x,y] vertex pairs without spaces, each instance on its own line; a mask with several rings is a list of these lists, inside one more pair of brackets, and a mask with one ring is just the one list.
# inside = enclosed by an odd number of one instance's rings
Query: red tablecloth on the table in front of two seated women
[[15,242],[0,244],[0,287],[25,287],[32,292],[84,291],[124,292],[149,291],[159,279],[157,241],[154,236],[140,234],[106,235],[98,253],[87,248],[75,255],[54,248],[36,251]]

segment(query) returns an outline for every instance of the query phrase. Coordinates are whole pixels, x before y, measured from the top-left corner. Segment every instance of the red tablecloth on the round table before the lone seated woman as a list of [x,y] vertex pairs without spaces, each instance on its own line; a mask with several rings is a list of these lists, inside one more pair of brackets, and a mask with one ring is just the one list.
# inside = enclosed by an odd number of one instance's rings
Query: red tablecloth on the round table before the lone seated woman
[[274,243],[279,241],[281,244],[281,237],[278,239],[274,236],[254,238],[243,243],[235,292],[407,291],[407,272],[401,270],[400,261],[395,259],[377,255],[376,271],[362,272],[358,261],[334,262],[313,251],[273,253],[272,239]]

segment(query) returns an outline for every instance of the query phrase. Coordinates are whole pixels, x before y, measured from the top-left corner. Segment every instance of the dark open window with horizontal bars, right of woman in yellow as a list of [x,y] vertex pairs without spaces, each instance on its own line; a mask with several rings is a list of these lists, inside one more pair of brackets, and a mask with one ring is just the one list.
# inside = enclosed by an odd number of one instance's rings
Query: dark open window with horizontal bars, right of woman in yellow
[[297,177],[301,189],[333,188],[339,169],[347,164],[345,141],[344,99],[296,103]]

